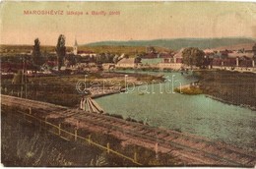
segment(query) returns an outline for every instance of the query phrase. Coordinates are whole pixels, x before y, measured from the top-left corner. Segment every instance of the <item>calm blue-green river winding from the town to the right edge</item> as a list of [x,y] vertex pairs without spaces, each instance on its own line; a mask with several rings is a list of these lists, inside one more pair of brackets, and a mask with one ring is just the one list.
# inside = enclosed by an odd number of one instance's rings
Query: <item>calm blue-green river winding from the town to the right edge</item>
[[225,104],[204,94],[173,93],[173,87],[196,79],[191,73],[183,76],[180,73],[160,74],[169,81],[130,87],[128,93],[107,95],[97,98],[96,102],[109,114],[256,151],[256,111]]

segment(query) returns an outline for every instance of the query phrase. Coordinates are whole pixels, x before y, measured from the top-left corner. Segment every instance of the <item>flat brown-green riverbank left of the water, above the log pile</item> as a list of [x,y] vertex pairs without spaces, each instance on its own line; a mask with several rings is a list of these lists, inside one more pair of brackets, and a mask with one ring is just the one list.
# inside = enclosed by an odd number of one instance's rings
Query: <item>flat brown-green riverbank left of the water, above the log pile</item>
[[[127,75],[127,76],[126,76]],[[101,72],[95,74],[31,77],[26,85],[12,84],[11,79],[1,82],[1,92],[7,95],[27,97],[58,105],[76,107],[84,95],[93,98],[119,93],[130,85],[139,85],[142,82],[162,82],[163,78],[153,75],[136,73]],[[78,83],[80,85],[78,85]],[[27,92],[26,92],[27,91]]]

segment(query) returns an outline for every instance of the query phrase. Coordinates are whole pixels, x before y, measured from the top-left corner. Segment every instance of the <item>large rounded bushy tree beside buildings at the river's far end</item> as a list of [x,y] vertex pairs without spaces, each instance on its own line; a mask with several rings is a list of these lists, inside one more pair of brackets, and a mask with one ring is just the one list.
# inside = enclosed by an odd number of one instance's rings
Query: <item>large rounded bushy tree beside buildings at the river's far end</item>
[[183,63],[191,67],[202,67],[204,64],[204,56],[204,51],[196,47],[185,48],[182,51]]

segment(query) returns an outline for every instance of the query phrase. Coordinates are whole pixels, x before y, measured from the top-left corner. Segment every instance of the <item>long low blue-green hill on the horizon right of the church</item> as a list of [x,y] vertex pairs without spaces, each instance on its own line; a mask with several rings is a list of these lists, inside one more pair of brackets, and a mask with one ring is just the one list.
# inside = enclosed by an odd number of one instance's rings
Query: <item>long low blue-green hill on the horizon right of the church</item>
[[[200,49],[217,48],[236,44],[255,43],[255,38],[226,37],[226,38],[174,38],[155,40],[129,40],[129,41],[99,41],[85,44],[86,46],[159,46],[172,50],[183,47],[199,47]],[[83,45],[84,46],[84,45]]]

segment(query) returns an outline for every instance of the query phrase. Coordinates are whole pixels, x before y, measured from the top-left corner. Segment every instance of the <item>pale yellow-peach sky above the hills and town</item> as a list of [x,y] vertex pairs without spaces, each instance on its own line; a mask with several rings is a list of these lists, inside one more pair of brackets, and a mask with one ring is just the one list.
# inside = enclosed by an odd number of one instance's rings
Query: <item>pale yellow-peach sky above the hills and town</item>
[[[41,45],[56,45],[61,33],[69,46],[75,38],[79,44],[183,37],[256,38],[254,2],[5,1],[0,8],[0,44],[33,44],[38,37]],[[59,15],[42,15],[42,11]],[[83,15],[67,15],[71,11]],[[98,15],[93,15],[94,11]]]

